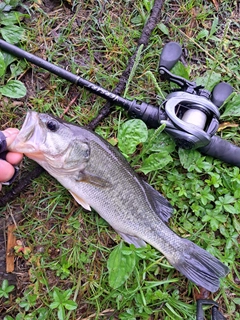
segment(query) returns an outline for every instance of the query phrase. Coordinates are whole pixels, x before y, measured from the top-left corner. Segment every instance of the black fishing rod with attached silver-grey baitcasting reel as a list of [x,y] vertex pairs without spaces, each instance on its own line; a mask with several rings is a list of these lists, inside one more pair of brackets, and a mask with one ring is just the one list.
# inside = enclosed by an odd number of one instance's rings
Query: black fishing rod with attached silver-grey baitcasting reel
[[0,49],[123,107],[131,117],[143,120],[150,128],[165,124],[165,131],[181,148],[197,149],[205,155],[240,167],[240,147],[215,135],[219,127],[219,107],[230,96],[233,88],[222,82],[209,92],[195,82],[172,74],[170,70],[182,55],[182,47],[177,42],[169,42],[164,46],[160,55],[159,73],[161,80],[177,84],[180,90],[168,94],[160,106],[122,98],[1,39]]

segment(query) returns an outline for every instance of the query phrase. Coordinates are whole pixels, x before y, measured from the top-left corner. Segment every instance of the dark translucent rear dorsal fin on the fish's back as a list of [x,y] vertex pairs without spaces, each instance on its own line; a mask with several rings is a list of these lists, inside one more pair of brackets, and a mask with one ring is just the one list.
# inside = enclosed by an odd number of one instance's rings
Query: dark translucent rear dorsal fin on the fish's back
[[153,206],[154,211],[164,222],[167,223],[172,216],[173,207],[161,193],[155,190],[152,186],[150,186],[150,184],[148,184],[144,180],[143,186],[145,188],[148,200]]

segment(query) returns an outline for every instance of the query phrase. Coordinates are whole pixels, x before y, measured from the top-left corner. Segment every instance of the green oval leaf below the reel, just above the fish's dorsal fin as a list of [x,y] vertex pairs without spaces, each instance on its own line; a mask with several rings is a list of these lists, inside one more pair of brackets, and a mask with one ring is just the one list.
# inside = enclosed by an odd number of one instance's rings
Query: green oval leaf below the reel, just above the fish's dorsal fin
[[139,171],[142,171],[144,174],[148,174],[151,171],[164,168],[171,161],[173,161],[173,159],[167,151],[152,153],[143,161]]

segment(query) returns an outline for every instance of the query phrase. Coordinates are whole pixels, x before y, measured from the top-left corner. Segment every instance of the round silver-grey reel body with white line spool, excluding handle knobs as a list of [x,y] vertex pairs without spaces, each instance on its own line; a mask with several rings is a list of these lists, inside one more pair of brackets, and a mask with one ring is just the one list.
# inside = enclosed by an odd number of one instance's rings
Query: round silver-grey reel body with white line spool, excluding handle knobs
[[208,99],[187,92],[173,92],[165,101],[168,120],[165,130],[183,149],[197,149],[209,144],[219,127],[220,113]]

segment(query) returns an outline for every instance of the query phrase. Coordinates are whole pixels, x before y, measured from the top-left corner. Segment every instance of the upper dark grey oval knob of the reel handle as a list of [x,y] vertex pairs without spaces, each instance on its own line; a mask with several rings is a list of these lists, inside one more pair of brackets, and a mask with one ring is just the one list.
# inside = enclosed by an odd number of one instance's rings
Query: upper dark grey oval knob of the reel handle
[[167,43],[160,55],[160,66],[171,70],[182,55],[182,47],[177,42]]

